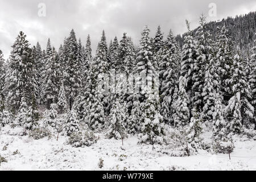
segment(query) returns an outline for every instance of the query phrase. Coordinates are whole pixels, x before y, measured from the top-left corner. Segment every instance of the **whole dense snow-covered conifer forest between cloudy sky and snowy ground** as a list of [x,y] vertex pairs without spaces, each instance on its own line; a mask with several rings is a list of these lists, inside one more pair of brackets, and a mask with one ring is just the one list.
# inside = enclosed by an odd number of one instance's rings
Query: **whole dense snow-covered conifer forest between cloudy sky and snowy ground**
[[103,30],[96,53],[73,29],[57,48],[20,31],[7,60],[0,50],[0,138],[63,138],[85,150],[135,138],[170,156],[226,155],[238,137],[256,140],[256,14],[184,24],[177,36],[145,26],[138,47],[129,32],[108,43]]

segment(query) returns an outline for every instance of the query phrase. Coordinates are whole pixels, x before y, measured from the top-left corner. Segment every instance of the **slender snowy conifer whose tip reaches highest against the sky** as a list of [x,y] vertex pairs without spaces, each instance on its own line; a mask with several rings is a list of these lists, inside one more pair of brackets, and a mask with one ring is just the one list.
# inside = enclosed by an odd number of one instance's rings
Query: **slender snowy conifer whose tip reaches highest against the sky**
[[[210,59],[212,59],[212,39],[209,33],[207,24],[205,22],[205,16],[200,16],[200,26],[196,31],[197,38],[197,57],[193,65],[193,86],[192,86],[192,105],[196,107],[197,110],[202,110],[204,107],[204,80],[205,80],[205,71],[209,65]],[[209,73],[209,72],[208,72]],[[210,75],[207,75],[210,76]]]

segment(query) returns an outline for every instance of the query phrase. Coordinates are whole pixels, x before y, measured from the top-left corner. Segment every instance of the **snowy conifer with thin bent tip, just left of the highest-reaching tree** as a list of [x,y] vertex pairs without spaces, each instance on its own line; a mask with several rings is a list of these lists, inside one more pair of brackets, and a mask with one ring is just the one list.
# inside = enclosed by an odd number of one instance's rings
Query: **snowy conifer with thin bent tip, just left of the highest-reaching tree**
[[188,20],[186,20],[188,32],[185,34],[184,38],[184,45],[182,47],[181,52],[181,70],[180,75],[185,77],[187,80],[187,86],[185,90],[187,92],[191,92],[192,86],[193,86],[193,66],[196,63],[197,58],[197,50],[196,50],[196,42],[195,39],[192,36],[192,31],[190,30],[190,24]]

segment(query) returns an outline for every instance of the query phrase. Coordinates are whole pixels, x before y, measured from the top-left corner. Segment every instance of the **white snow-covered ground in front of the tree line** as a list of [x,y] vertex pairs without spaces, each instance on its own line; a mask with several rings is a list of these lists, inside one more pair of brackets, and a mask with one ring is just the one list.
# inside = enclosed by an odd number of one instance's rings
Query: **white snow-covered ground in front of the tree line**
[[[168,156],[163,146],[137,144],[136,136],[123,141],[106,139],[96,144],[74,148],[67,137],[34,140],[0,132],[0,155],[7,160],[0,170],[256,170],[256,141],[237,137],[231,160],[228,155],[212,155],[207,151],[184,157]],[[2,150],[6,146],[5,150]],[[18,154],[14,152],[18,150]],[[104,166],[98,167],[102,158]]]

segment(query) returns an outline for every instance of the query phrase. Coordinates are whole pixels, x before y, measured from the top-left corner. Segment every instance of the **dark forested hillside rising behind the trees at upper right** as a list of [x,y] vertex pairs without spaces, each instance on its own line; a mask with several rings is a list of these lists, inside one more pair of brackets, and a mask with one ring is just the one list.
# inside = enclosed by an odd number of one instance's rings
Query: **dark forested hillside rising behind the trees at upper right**
[[[256,32],[256,11],[246,15],[236,16],[236,18],[228,17],[220,22],[209,22],[208,27],[212,35],[217,34],[217,27],[225,26],[229,29],[230,35],[235,45],[240,46],[243,51],[248,52],[254,40]],[[194,30],[196,32],[196,30]],[[184,36],[184,35],[183,35]],[[177,35],[179,46],[183,45],[183,38]]]

